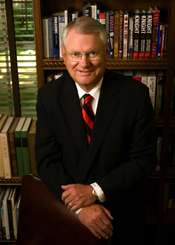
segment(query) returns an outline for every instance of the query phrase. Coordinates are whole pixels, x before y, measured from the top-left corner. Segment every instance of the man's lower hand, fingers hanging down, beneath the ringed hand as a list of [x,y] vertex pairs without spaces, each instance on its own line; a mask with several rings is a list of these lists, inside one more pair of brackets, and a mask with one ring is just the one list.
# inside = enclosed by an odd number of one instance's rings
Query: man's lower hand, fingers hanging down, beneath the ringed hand
[[99,204],[82,208],[78,214],[80,222],[85,225],[97,238],[108,239],[112,236],[113,226],[110,212]]

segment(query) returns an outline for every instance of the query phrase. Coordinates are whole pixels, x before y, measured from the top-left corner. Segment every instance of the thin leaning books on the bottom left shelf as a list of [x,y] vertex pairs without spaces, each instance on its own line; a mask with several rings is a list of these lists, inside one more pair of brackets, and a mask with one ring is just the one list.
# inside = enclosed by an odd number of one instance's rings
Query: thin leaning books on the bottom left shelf
[[0,186],[0,240],[17,239],[20,188]]

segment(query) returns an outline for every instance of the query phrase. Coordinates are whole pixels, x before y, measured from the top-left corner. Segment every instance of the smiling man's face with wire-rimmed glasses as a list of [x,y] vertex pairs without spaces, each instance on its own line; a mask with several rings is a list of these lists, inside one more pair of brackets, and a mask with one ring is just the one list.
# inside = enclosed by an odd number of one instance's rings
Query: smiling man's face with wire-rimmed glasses
[[106,49],[97,34],[70,30],[62,54],[69,74],[85,91],[90,91],[102,78]]

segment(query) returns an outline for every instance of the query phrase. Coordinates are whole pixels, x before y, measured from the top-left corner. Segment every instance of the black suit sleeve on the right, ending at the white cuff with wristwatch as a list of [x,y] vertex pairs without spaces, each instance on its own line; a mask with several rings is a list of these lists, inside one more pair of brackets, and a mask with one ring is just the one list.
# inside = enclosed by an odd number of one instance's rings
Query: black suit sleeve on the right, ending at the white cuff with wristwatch
[[156,162],[154,113],[149,90],[142,87],[138,91],[137,104],[133,106],[136,107],[136,113],[131,119],[132,128],[125,139],[127,157],[121,157],[121,162],[116,164],[116,168],[97,180],[107,199],[119,200],[121,195],[139,188],[145,177],[151,174]]

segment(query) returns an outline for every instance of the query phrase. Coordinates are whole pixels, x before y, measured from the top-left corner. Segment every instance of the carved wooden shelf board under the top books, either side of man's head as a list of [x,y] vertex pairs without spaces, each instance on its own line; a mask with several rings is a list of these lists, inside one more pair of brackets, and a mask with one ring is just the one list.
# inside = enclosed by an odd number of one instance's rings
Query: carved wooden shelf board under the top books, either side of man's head
[[[42,67],[44,70],[64,70],[63,60],[43,59]],[[156,59],[128,59],[116,60],[108,59],[107,68],[110,70],[166,70],[168,62],[166,58]]]

